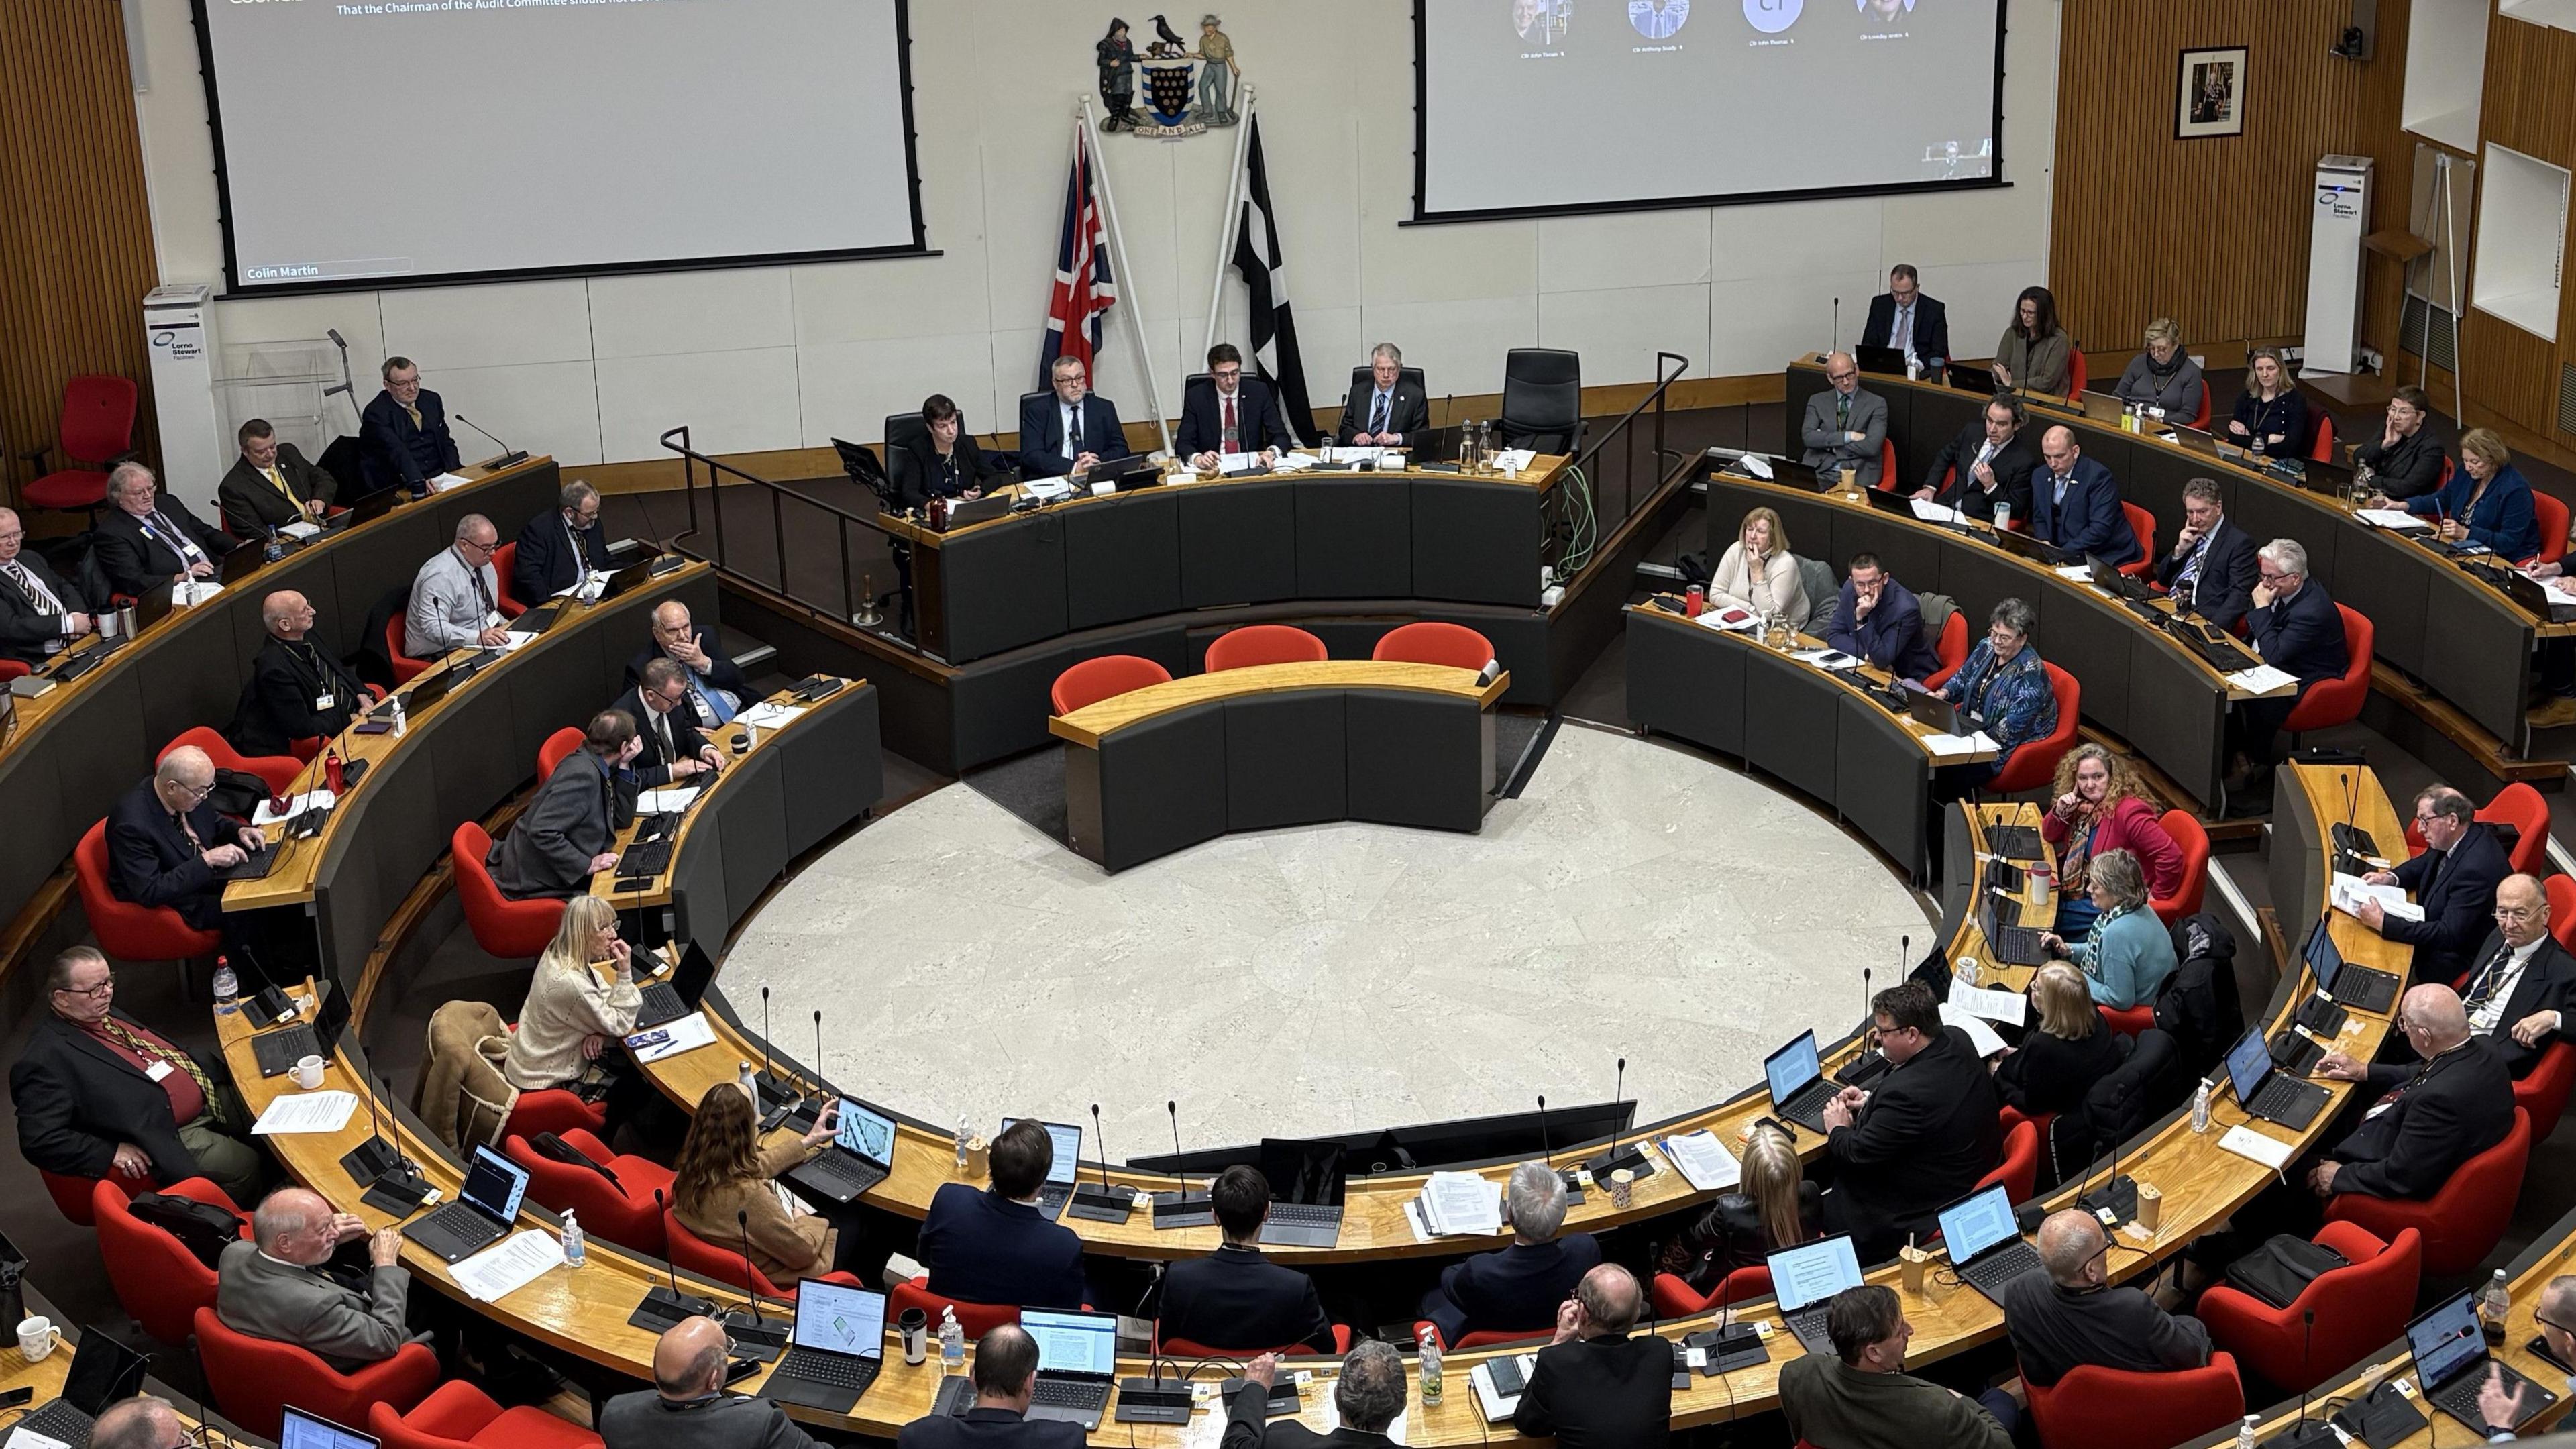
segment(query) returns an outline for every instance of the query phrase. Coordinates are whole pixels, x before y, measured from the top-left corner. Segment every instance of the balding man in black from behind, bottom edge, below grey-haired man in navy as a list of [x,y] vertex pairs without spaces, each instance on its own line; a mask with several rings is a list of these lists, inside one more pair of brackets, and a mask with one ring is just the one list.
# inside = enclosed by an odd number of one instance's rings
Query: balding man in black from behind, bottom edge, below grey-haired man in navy
[[1636,1274],[1602,1263],[1556,1310],[1556,1338],[1520,1390],[1512,1428],[1564,1449],[1628,1449],[1672,1434],[1672,1343],[1631,1338],[1646,1294]]

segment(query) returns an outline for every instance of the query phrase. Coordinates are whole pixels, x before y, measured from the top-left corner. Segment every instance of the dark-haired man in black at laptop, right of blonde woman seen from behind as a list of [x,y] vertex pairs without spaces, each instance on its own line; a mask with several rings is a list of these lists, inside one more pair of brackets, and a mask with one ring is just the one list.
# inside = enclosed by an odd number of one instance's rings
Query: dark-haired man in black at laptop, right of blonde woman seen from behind
[[1965,1031],[1942,1026],[1932,987],[1891,985],[1870,1016],[1891,1070],[1824,1104],[1834,1168],[1824,1225],[1850,1232],[1862,1263],[1893,1256],[1906,1232],[1929,1238],[1935,1214],[1994,1171],[2004,1145],[1994,1075]]

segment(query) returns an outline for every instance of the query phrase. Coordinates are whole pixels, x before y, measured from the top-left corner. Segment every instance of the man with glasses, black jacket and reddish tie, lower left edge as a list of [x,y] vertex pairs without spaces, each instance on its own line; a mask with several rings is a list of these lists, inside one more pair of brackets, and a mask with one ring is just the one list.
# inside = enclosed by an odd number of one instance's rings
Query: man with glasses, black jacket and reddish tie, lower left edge
[[116,1011],[116,975],[93,946],[54,957],[49,1011],[8,1073],[18,1155],[67,1178],[144,1191],[209,1178],[258,1201],[268,1158],[219,1060],[198,1060]]

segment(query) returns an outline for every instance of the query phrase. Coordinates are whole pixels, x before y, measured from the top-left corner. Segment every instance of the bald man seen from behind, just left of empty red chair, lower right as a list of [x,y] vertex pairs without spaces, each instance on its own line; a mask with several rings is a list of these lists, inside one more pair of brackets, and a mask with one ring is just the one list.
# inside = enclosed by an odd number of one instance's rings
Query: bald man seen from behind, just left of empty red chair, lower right
[[2197,1318],[2174,1318],[2138,1289],[2110,1287],[2115,1250],[2125,1248],[2089,1212],[2069,1207],[2040,1222],[2045,1271],[2004,1287],[2004,1330],[2032,1385],[2056,1385],[2084,1364],[2154,1374],[2210,1361],[2210,1330]]

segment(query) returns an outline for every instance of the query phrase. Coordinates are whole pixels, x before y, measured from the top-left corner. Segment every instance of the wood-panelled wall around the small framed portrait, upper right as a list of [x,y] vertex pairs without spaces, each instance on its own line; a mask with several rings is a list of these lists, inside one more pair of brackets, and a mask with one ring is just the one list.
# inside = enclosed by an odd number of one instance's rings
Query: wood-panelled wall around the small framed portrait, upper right
[[[2342,3],[2063,0],[2048,284],[2092,376],[2120,376],[2154,317],[2221,366],[2241,343],[2298,338],[2321,155],[2375,157],[2372,229],[2406,227],[2406,10],[2380,0],[2375,57],[2347,62],[2326,54]],[[2215,46],[2246,46],[2244,134],[2177,139],[2182,52]],[[2401,284],[2372,258],[2372,345],[2396,343]]]

